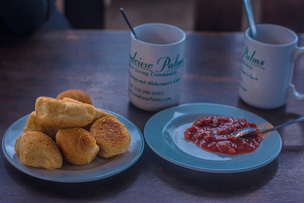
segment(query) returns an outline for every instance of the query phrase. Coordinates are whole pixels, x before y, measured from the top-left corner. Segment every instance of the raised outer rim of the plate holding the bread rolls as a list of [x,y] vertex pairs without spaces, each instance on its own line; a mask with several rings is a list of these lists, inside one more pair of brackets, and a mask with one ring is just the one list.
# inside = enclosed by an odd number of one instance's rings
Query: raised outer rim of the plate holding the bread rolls
[[[97,108],[97,107],[96,107]],[[91,178],[79,178],[79,179],[62,179],[60,177],[45,177],[45,176],[42,176],[40,174],[35,174],[34,172],[32,171],[28,171],[26,170],[25,168],[22,168],[20,167],[17,163],[14,162],[14,160],[12,160],[8,154],[7,154],[7,146],[5,146],[5,140],[7,139],[7,134],[8,132],[10,131],[10,129],[12,129],[14,127],[14,125],[17,123],[17,122],[21,122],[23,119],[25,119],[25,117],[29,117],[30,114],[26,114],[22,117],[20,117],[19,119],[17,119],[16,121],[14,121],[8,128],[7,130],[5,131],[3,137],[2,137],[2,142],[1,142],[1,145],[2,145],[2,152],[4,154],[4,157],[6,158],[6,160],[12,165],[14,166],[16,169],[18,169],[19,171],[29,175],[29,176],[32,176],[32,177],[35,177],[35,178],[38,178],[38,179],[42,179],[42,180],[46,180],[46,181],[52,181],[52,182],[59,182],[59,183],[85,183],[85,182],[91,182],[91,181],[97,181],[97,180],[102,180],[102,179],[105,179],[105,178],[109,178],[111,176],[114,176],[114,175],[117,175],[123,171],[125,171],[126,169],[130,168],[132,165],[134,165],[138,160],[139,158],[142,156],[143,152],[144,152],[144,149],[145,149],[145,139],[144,139],[144,136],[142,134],[142,132],[140,131],[140,129],[132,122],[130,121],[129,119],[123,117],[122,115],[120,114],[117,114],[115,112],[112,112],[112,111],[109,111],[109,110],[105,110],[105,109],[101,109],[99,108],[100,110],[103,110],[105,112],[108,112],[108,113],[111,113],[111,114],[114,114],[118,117],[118,120],[122,119],[122,120],[125,120],[125,122],[128,122],[132,127],[134,127],[134,130],[138,133],[138,140],[137,141],[140,141],[140,149],[139,149],[139,152],[136,153],[137,155],[134,157],[133,160],[131,160],[130,162],[128,162],[128,164],[122,166],[121,168],[119,169],[116,169],[114,171],[111,171],[111,172],[108,172],[106,174],[103,174],[103,175],[100,175],[100,176],[95,176],[95,177],[91,177]],[[123,121],[121,121],[124,125],[126,125],[126,123],[124,123]],[[23,131],[22,131],[23,132]],[[19,136],[19,135],[18,135]],[[18,138],[18,136],[16,136],[16,139]],[[132,135],[131,135],[132,136]],[[132,138],[131,142],[134,140],[135,138]],[[15,154],[14,154],[15,155]],[[12,155],[12,156],[14,156]],[[25,165],[24,165],[25,166]],[[103,165],[104,166],[104,165]],[[29,167],[29,166],[26,166],[26,167]],[[46,170],[46,169],[41,169],[41,168],[35,168],[35,167],[30,167],[30,168],[33,168],[34,170]],[[88,170],[97,170],[99,167],[96,167],[94,169],[87,169],[87,170],[83,170],[83,171],[88,171]],[[56,170],[56,169],[55,169]],[[47,171],[50,171],[52,172],[53,170],[47,170]]]

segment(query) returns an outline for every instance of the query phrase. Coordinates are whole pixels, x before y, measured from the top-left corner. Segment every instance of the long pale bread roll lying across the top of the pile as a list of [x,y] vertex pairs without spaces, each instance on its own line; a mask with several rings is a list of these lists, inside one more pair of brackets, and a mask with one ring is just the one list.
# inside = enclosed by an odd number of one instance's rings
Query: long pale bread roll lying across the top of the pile
[[91,123],[96,114],[93,105],[50,97],[38,97],[35,111],[41,121],[59,129],[83,127]]

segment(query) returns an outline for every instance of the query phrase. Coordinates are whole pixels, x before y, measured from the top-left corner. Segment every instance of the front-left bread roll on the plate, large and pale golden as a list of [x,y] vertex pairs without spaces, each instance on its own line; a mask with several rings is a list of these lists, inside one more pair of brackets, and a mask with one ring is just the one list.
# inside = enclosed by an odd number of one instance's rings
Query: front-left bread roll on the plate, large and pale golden
[[62,155],[56,143],[41,132],[22,133],[16,140],[15,152],[26,166],[51,170],[62,165]]

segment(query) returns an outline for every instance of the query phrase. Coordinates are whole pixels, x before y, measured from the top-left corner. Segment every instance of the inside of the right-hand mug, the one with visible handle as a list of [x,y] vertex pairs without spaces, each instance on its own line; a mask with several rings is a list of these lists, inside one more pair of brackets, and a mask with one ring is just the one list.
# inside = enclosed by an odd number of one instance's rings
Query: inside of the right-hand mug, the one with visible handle
[[[245,34],[252,38],[250,28],[246,30]],[[274,24],[257,25],[257,41],[259,42],[283,45],[294,43],[297,39],[296,33],[289,28]]]

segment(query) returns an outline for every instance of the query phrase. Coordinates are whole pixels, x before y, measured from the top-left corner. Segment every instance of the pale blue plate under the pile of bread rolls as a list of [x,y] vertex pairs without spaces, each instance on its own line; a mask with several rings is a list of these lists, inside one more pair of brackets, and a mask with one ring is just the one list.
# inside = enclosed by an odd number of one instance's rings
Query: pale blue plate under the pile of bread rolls
[[[106,111],[106,110],[104,110]],[[112,113],[117,116],[118,120],[125,124],[131,134],[131,146],[129,151],[113,157],[96,158],[87,165],[75,166],[67,162],[63,162],[60,169],[46,170],[25,166],[19,160],[19,156],[14,151],[16,139],[23,133],[23,128],[26,124],[29,114],[15,121],[5,132],[2,139],[2,151],[5,158],[17,169],[30,176],[62,183],[79,183],[96,181],[114,176],[132,166],[142,155],[144,151],[144,137],[141,131],[128,119]]]

